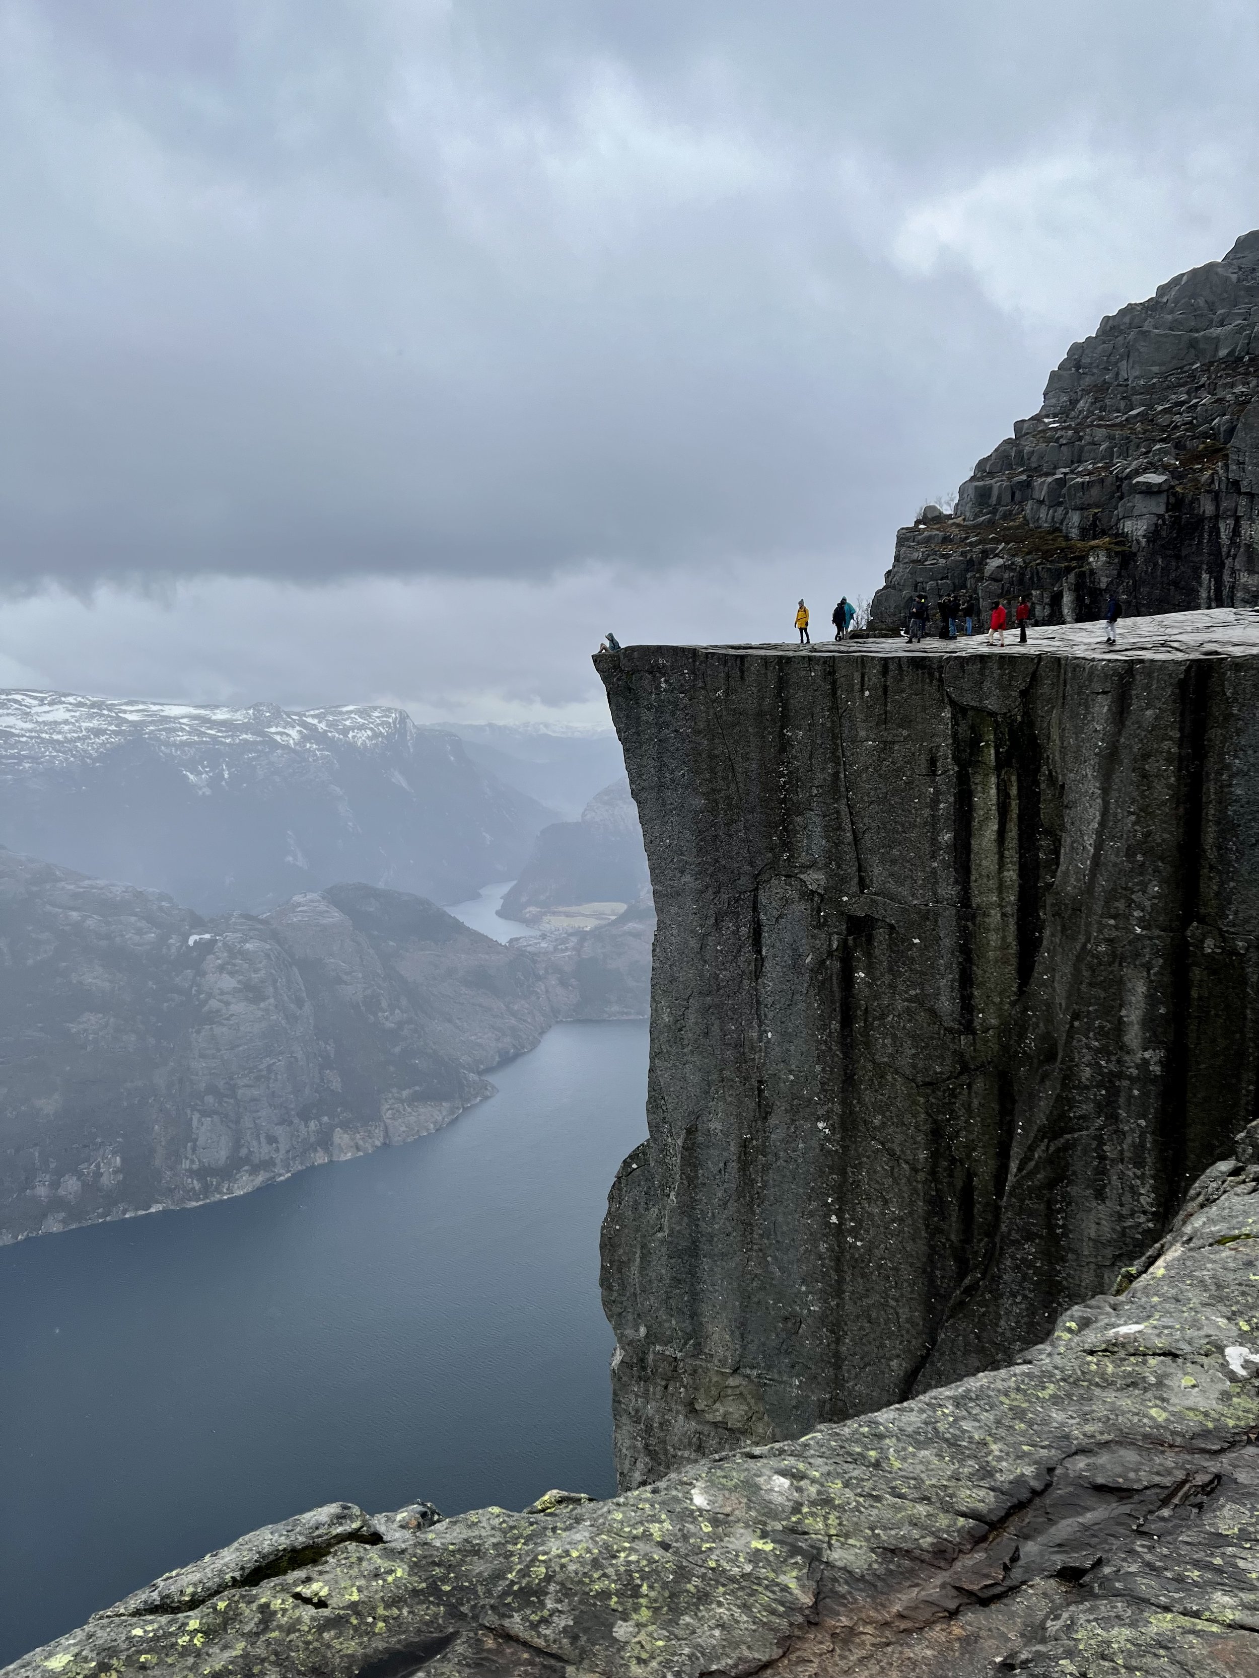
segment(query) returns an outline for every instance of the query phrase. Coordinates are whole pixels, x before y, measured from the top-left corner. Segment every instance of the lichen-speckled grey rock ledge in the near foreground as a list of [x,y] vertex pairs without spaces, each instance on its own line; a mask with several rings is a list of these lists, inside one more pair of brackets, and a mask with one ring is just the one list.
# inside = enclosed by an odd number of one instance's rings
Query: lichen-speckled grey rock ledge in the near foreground
[[[606,1503],[331,1503],[5,1678],[1259,1670],[1254,1141],[1014,1368]],[[871,1242],[900,1267],[893,1228]]]

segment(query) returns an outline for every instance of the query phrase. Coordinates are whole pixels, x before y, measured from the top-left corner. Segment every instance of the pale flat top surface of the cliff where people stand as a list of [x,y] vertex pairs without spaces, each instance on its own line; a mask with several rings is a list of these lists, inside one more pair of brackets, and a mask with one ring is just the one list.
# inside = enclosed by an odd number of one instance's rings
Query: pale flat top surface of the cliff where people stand
[[[1012,616],[1012,612],[1011,612]],[[673,648],[670,648],[673,649]],[[1006,626],[1006,646],[987,644],[987,629],[955,641],[938,639],[938,621],[928,624],[925,638],[917,644],[900,636],[870,636],[854,641],[814,641],[799,646],[794,641],[752,641],[747,644],[692,644],[693,653],[759,653],[765,658],[1096,658],[1113,663],[1123,658],[1183,659],[1183,658],[1259,658],[1259,611],[1219,607],[1204,612],[1165,612],[1157,618],[1121,618],[1118,641],[1108,646],[1105,624],[1051,624],[1031,628],[1027,643],[1019,644],[1017,628]],[[599,670],[614,670],[624,654],[655,653],[665,648],[630,646],[621,653],[599,653]]]

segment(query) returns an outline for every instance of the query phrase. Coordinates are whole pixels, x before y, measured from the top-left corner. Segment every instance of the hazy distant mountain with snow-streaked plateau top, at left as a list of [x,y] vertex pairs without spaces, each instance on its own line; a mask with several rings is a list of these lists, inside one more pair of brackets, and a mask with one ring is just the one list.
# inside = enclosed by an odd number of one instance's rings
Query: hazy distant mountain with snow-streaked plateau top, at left
[[554,812],[383,705],[156,705],[0,691],[0,844],[201,913],[334,881],[458,903]]

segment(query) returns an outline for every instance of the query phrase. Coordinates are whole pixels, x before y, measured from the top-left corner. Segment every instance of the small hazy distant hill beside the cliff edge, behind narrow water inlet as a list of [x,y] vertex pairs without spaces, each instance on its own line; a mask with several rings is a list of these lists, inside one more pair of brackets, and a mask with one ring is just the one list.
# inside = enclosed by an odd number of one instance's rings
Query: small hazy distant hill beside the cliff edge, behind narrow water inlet
[[614,920],[648,891],[646,856],[630,782],[598,792],[579,822],[554,822],[537,836],[499,915],[554,931]]

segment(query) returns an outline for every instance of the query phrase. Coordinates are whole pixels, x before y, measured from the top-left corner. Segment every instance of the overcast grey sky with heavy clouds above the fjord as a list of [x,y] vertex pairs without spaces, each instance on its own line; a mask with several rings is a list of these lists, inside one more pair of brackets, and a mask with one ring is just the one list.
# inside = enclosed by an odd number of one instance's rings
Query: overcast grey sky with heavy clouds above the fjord
[[1252,0],[0,0],[0,685],[606,718],[1259,225]]

